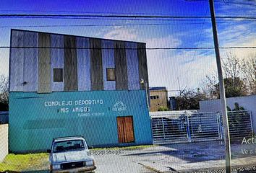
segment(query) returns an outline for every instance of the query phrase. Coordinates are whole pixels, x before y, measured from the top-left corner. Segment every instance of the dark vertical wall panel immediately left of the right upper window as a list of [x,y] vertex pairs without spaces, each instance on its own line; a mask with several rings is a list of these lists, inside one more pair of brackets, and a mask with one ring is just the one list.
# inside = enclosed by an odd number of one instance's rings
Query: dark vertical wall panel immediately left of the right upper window
[[92,90],[103,90],[101,40],[90,38],[90,79]]

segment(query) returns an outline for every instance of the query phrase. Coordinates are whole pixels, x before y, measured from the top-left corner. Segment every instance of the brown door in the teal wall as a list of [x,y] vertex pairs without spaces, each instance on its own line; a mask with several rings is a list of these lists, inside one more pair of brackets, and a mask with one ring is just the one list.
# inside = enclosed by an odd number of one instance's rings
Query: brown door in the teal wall
[[132,117],[117,117],[119,143],[131,143],[135,141]]

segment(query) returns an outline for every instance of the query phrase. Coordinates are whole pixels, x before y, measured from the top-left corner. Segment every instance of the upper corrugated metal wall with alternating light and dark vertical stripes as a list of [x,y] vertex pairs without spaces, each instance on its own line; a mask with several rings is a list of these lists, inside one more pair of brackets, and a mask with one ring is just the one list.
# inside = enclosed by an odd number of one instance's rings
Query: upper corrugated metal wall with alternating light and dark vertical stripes
[[[145,43],[12,30],[11,44],[10,92],[134,90],[148,82]],[[54,68],[63,81],[54,81]]]

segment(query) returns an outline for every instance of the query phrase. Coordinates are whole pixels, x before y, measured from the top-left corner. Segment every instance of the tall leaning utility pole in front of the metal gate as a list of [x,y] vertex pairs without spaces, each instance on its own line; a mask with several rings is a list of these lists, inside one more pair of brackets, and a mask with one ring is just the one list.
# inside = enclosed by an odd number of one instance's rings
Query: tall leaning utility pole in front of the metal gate
[[219,81],[220,97],[221,97],[220,98],[221,113],[223,118],[223,128],[224,128],[224,135],[225,135],[224,139],[225,139],[225,148],[226,148],[226,173],[231,173],[231,148],[230,148],[230,138],[229,138],[229,120],[228,120],[228,114],[226,111],[226,96],[225,96],[225,87],[224,87],[222,68],[221,68],[220,50],[218,48],[216,17],[214,12],[213,0],[209,0],[209,2],[210,2],[210,17],[211,17],[212,26],[213,26],[214,48],[215,48],[217,68],[218,68],[218,81]]

